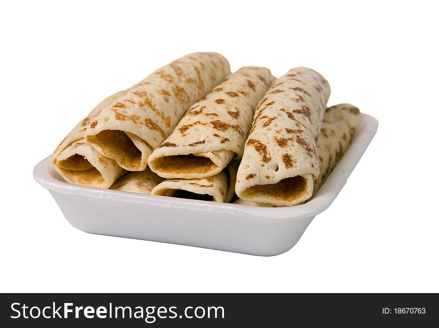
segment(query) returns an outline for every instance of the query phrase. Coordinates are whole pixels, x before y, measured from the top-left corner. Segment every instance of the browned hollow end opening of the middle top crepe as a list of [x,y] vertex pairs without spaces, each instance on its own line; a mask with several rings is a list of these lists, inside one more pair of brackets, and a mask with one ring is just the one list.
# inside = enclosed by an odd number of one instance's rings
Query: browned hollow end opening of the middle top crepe
[[152,163],[152,166],[160,168],[160,172],[172,174],[205,174],[218,168],[210,158],[193,155],[160,157]]

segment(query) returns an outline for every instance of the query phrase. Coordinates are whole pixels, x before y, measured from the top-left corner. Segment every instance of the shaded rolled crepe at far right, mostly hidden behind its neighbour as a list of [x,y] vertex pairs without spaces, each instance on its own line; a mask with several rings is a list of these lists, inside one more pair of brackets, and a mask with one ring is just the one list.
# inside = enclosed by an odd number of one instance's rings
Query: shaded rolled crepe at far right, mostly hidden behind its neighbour
[[320,174],[314,180],[314,193],[348,149],[359,123],[360,110],[351,104],[326,109],[318,141]]

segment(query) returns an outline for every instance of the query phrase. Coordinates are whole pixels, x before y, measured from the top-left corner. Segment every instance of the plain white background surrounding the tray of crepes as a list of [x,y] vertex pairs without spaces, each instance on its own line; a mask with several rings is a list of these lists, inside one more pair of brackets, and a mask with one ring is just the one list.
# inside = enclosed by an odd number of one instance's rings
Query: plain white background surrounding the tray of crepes
[[[1,292],[439,292],[434,1],[5,2]],[[86,234],[32,178],[104,97],[195,51],[232,71],[311,67],[329,105],[380,121],[332,206],[282,255]]]

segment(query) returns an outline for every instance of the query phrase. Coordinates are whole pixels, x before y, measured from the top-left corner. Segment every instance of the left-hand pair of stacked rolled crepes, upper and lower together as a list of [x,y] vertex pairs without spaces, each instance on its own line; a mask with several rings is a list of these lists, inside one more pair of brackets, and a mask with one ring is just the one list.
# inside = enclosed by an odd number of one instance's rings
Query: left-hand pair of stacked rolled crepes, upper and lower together
[[228,61],[215,52],[163,66],[79,122],[53,153],[55,170],[69,183],[98,188],[109,188],[127,171],[144,171],[187,109],[229,73]]

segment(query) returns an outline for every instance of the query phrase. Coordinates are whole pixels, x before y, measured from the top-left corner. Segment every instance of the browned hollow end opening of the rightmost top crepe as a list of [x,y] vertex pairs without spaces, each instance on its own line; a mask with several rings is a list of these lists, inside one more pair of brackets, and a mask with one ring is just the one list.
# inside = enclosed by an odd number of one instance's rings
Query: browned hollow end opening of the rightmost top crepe
[[306,191],[306,180],[301,176],[285,178],[278,183],[255,185],[244,190],[245,196],[264,195],[269,199],[281,201],[294,201],[302,197]]

